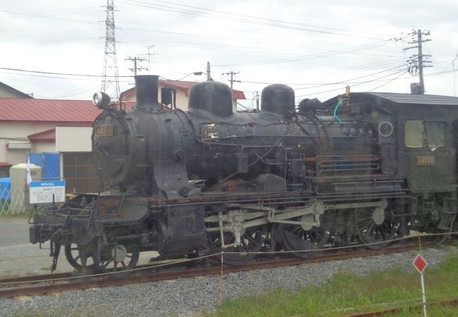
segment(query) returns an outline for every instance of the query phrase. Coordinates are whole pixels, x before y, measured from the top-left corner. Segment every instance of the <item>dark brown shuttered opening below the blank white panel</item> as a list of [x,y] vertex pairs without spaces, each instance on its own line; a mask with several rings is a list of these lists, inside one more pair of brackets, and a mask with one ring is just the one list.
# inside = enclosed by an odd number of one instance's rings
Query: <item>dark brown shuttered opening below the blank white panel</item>
[[99,178],[92,153],[63,153],[66,192],[97,192]]

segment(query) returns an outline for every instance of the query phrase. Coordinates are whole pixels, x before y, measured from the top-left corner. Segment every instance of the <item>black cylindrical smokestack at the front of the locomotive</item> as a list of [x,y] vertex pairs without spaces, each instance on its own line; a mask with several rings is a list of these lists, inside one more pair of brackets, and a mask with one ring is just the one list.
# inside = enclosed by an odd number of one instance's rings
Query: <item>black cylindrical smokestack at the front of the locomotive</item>
[[137,75],[135,76],[135,94],[137,98],[137,108],[145,112],[159,112],[157,101],[158,94],[157,75]]

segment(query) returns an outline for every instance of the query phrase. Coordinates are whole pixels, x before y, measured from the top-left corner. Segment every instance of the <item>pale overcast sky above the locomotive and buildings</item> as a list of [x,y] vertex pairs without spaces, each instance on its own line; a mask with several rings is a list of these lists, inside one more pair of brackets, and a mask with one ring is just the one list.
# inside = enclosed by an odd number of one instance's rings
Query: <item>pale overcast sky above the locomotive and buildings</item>
[[[132,87],[128,56],[145,58],[139,74],[178,80],[206,70],[245,92],[270,83],[296,99],[322,101],[345,92],[409,92],[419,77],[406,60],[409,33],[430,31],[423,54],[427,94],[454,96],[458,68],[458,1],[114,0],[120,90]],[[36,98],[91,99],[101,89],[105,0],[1,1],[0,82]],[[149,53],[148,56],[148,46]],[[149,63],[148,63],[149,57]],[[9,69],[6,69],[9,68]],[[30,73],[65,73],[52,75]],[[75,76],[83,75],[83,76]],[[87,76],[93,75],[93,76]],[[185,80],[204,80],[189,75]]]

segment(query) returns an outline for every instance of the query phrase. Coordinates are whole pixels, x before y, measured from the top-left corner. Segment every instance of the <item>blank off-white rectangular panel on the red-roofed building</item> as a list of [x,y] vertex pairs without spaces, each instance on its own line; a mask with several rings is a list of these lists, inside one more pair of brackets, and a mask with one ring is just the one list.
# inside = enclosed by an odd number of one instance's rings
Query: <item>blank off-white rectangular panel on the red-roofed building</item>
[[56,151],[91,152],[92,127],[56,127]]

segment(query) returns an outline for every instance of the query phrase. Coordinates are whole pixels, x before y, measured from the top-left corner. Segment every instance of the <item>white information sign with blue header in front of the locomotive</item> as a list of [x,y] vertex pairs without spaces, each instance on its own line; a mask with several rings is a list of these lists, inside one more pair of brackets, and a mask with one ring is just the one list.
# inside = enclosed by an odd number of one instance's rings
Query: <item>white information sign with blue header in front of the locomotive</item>
[[31,182],[29,187],[30,204],[43,204],[66,201],[65,180]]

